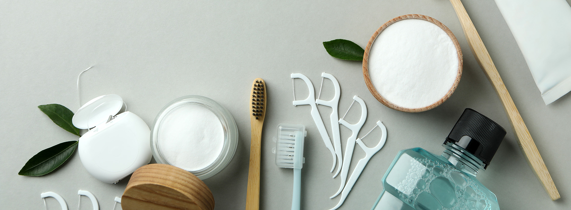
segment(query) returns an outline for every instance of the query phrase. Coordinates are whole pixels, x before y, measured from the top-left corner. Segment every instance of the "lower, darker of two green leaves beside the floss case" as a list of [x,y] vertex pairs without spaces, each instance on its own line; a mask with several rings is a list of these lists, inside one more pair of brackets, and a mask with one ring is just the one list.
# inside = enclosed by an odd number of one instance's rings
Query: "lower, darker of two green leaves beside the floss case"
[[78,146],[78,141],[59,143],[38,152],[18,172],[22,176],[42,176],[62,165]]

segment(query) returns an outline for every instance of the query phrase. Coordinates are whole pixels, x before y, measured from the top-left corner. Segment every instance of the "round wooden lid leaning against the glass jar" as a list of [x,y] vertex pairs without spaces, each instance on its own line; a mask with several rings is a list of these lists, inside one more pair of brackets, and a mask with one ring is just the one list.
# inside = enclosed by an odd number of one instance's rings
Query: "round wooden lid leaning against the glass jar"
[[213,210],[214,197],[191,172],[167,164],[149,164],[133,172],[121,197],[121,207]]

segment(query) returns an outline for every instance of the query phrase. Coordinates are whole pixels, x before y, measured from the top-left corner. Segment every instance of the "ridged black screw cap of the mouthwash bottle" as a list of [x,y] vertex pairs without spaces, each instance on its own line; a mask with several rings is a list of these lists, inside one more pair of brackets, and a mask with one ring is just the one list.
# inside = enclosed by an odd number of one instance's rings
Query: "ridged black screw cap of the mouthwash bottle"
[[475,155],[488,167],[504,140],[505,130],[493,120],[467,108],[446,138],[444,144],[452,142]]

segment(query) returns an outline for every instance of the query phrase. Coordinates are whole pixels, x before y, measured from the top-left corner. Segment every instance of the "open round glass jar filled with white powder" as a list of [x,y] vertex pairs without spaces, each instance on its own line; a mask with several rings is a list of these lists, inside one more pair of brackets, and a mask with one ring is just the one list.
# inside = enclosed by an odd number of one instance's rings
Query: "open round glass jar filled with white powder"
[[156,116],[151,150],[157,163],[206,179],[222,171],[236,152],[238,127],[226,108],[210,98],[183,96]]

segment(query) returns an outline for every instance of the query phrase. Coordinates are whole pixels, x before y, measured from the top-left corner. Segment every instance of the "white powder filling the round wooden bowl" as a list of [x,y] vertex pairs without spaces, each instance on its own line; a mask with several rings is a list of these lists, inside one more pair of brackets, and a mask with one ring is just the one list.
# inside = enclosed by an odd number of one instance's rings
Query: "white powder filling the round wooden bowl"
[[456,47],[439,26],[421,19],[392,23],[369,52],[371,82],[383,98],[422,108],[447,95],[458,74]]

